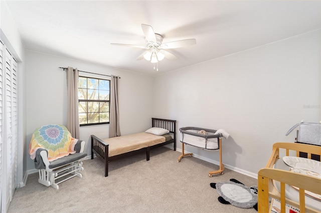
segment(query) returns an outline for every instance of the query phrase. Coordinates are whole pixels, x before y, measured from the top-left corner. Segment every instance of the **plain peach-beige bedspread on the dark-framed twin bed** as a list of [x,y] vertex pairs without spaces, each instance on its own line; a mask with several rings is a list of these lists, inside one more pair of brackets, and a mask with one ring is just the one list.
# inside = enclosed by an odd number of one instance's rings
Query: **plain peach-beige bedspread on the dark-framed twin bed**
[[108,156],[110,157],[117,154],[126,153],[128,151],[133,151],[162,143],[165,142],[165,140],[166,139],[164,136],[158,136],[146,132],[139,132],[103,139],[103,141],[109,144]]

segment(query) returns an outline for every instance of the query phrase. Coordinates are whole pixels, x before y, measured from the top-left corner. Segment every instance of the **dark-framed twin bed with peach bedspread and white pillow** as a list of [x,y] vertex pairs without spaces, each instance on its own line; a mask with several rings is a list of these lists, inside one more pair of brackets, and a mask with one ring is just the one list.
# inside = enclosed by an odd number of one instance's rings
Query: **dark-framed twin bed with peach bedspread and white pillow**
[[155,147],[174,143],[176,150],[176,120],[151,118],[151,128],[145,132],[138,132],[119,137],[101,139],[91,135],[91,159],[94,154],[105,163],[105,176],[108,176],[108,161],[146,152],[149,160],[149,150]]

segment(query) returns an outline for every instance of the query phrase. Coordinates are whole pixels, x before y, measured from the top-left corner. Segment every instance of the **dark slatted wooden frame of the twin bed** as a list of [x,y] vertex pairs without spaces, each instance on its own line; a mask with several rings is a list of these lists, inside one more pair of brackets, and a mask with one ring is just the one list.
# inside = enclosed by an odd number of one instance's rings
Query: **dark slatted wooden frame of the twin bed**
[[95,135],[91,135],[91,159],[94,158],[94,153],[96,156],[100,157],[104,162],[105,162],[105,177],[108,176],[108,161],[121,158],[121,157],[126,157],[126,156],[131,156],[133,154],[136,154],[138,152],[146,152],[146,160],[149,160],[149,150],[152,148],[156,148],[159,146],[163,146],[166,144],[174,143],[174,151],[176,151],[176,120],[169,120],[169,119],[162,119],[162,118],[151,118],[151,126],[152,127],[159,127],[159,128],[166,128],[168,129],[171,133],[174,133],[174,138],[165,141],[156,145],[151,145],[147,147],[143,147],[138,150],[133,150],[129,151],[126,153],[114,155],[114,156],[108,156],[108,146],[109,144],[104,142],[102,139]]

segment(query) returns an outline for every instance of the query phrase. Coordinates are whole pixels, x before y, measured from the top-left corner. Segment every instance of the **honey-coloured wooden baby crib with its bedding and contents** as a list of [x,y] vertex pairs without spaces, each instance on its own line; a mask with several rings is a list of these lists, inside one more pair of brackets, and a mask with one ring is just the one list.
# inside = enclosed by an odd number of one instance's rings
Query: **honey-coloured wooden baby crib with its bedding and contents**
[[[303,153],[307,158],[299,157]],[[321,212],[321,163],[311,159],[320,154],[317,145],[274,143],[258,172],[258,212]]]

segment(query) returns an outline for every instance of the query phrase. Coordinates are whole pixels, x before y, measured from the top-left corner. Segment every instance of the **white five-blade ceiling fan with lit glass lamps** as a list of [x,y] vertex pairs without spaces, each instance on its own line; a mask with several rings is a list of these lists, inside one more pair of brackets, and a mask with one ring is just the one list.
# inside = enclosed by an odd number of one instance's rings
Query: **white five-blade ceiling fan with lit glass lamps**
[[125,43],[111,43],[111,44],[146,49],[146,51],[144,51],[142,54],[140,54],[137,57],[137,60],[141,60],[142,58],[145,58],[146,60],[152,63],[156,63],[160,60],[163,60],[164,58],[168,58],[168,59],[177,58],[176,55],[174,55],[169,51],[166,51],[165,49],[179,48],[183,46],[196,44],[195,38],[162,43],[163,36],[161,34],[155,33],[153,28],[150,25],[141,24],[141,29],[145,35],[146,44],[144,46],[135,45],[135,44],[125,44]]

